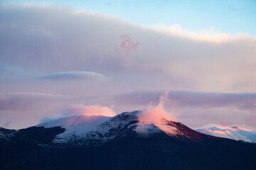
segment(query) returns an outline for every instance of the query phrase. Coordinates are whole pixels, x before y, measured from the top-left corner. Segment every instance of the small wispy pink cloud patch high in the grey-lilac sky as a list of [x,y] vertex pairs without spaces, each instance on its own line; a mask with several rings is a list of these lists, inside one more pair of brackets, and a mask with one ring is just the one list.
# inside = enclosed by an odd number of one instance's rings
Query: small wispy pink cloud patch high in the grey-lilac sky
[[129,52],[131,52],[132,50],[135,50],[139,46],[138,41],[132,42],[129,34],[121,35],[121,38],[123,41],[120,47],[124,49],[126,55],[129,55]]

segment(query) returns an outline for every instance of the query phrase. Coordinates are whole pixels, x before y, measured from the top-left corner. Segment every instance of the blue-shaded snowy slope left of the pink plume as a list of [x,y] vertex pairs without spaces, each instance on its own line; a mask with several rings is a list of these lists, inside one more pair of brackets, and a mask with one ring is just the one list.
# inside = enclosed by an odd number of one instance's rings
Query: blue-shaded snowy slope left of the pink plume
[[[72,143],[73,145],[100,145],[107,140],[113,140],[124,133],[124,127],[134,128],[137,113],[126,112],[114,117],[105,116],[72,116],[70,118],[61,118],[48,123],[37,125],[38,127],[53,128],[60,126],[65,128],[65,132],[57,135],[54,143]],[[135,122],[134,122],[135,121]],[[131,126],[129,126],[131,125]]]

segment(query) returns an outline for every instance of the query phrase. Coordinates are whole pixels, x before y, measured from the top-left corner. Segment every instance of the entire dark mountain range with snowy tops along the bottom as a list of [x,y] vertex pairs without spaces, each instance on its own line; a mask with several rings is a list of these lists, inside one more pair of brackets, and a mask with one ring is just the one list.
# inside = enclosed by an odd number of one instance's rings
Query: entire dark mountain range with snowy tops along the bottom
[[0,128],[0,169],[256,168],[256,144],[235,141],[251,137],[250,130],[214,128],[230,132],[227,139],[164,118],[142,121],[140,114],[77,115],[21,130]]

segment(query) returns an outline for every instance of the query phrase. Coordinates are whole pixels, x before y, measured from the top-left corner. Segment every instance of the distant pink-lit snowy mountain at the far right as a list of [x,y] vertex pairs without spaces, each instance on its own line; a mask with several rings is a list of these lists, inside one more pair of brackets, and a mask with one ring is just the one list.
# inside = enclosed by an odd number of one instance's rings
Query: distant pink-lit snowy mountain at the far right
[[256,130],[240,128],[237,126],[228,127],[217,125],[210,128],[198,128],[196,131],[212,135],[215,137],[225,137],[232,140],[242,140],[245,142],[256,142]]

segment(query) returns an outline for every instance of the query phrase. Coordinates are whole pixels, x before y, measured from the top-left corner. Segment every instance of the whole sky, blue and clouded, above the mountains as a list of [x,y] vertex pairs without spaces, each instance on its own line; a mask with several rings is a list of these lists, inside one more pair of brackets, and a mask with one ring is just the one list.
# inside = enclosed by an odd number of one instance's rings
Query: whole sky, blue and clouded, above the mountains
[[[159,103],[256,128],[255,1],[0,1],[0,127]],[[92,114],[93,113],[93,114]]]

